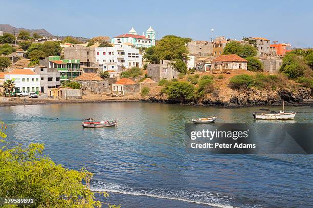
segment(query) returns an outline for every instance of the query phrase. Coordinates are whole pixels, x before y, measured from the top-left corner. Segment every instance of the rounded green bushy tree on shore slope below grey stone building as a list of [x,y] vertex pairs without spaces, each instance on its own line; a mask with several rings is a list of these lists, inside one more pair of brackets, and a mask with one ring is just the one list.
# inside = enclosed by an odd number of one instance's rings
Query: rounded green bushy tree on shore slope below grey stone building
[[194,86],[189,82],[173,82],[166,87],[165,93],[171,99],[180,99],[181,103],[194,98]]

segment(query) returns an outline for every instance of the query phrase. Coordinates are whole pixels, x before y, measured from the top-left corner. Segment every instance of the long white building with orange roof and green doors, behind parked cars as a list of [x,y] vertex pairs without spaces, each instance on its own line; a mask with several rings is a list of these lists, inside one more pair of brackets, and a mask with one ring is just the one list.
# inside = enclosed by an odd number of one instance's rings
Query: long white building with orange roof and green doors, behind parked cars
[[5,80],[12,80],[15,84],[15,92],[39,92],[40,75],[31,69],[13,69],[5,74]]

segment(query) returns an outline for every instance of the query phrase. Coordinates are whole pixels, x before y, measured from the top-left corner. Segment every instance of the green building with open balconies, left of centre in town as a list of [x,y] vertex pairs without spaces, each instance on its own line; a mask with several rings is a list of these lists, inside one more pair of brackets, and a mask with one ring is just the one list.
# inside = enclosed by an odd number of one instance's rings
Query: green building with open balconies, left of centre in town
[[46,57],[39,61],[40,65],[48,69],[56,69],[60,73],[60,80],[73,80],[82,73],[79,59],[60,59],[59,56]]

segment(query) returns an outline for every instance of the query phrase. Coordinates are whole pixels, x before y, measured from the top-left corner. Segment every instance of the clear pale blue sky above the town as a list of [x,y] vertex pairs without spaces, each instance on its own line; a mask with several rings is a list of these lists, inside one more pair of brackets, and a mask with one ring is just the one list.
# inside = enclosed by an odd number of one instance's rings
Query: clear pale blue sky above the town
[[[264,37],[313,47],[313,1],[81,1],[0,0],[0,24],[46,29],[58,36],[114,37],[134,27],[165,35],[211,40]],[[212,34],[211,29],[214,29]]]

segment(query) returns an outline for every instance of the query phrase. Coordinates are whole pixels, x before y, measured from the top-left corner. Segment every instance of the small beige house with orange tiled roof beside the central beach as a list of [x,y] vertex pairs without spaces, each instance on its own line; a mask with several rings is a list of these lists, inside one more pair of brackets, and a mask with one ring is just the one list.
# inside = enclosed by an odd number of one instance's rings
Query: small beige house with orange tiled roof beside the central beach
[[118,95],[130,95],[140,92],[140,84],[129,78],[122,78],[112,85],[112,92]]

